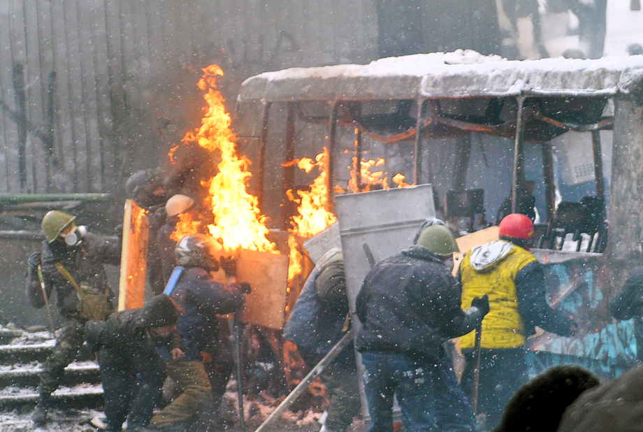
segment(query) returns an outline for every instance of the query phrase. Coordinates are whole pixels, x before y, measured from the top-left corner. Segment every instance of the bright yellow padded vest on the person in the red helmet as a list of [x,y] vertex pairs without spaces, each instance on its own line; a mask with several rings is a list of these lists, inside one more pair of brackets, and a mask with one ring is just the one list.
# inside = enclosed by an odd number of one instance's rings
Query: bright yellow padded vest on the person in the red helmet
[[[525,326],[518,312],[516,275],[527,264],[536,261],[527,250],[514,245],[503,259],[487,271],[476,271],[466,254],[460,265],[462,277],[462,308],[470,308],[475,297],[489,296],[489,314],[482,320],[483,348],[515,348],[525,345]],[[486,269],[485,269],[486,270]],[[460,338],[461,348],[475,345],[475,331]]]

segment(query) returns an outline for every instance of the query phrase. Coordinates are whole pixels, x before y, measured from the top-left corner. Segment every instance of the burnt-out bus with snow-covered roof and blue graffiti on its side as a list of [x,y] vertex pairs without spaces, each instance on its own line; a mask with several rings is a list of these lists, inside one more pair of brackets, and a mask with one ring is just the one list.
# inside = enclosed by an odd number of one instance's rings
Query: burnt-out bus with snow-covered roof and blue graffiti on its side
[[631,326],[606,304],[643,240],[642,56],[458,51],[268,72],[243,83],[235,121],[271,230],[292,231],[314,190],[320,226],[339,196],[410,185],[430,184],[435,213],[463,235],[527,208],[549,303],[579,324],[572,338],[530,339],[535,372],[573,361],[609,377],[632,365]]

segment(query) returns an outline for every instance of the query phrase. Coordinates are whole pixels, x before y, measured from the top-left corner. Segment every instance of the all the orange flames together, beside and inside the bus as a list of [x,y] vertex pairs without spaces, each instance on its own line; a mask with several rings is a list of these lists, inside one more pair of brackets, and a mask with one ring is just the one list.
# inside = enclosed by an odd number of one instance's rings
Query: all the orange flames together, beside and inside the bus
[[[266,238],[266,217],[259,211],[257,198],[247,193],[247,182],[251,176],[248,171],[250,161],[245,156],[236,154],[236,136],[231,129],[231,118],[229,113],[226,113],[224,98],[217,88],[217,79],[224,73],[217,65],[208,66],[203,72],[198,88],[205,92],[203,98],[208,103],[206,113],[201,127],[185,134],[182,142],[186,145],[197,143],[219,155],[217,174],[213,178],[203,180],[203,185],[207,186],[209,191],[205,205],[212,210],[215,220],[214,224],[208,225],[208,231],[228,252],[243,248],[278,254],[276,245]],[[178,146],[173,147],[170,151],[171,160],[177,148]],[[298,203],[298,214],[291,221],[293,227],[290,231],[293,236],[288,240],[291,251],[289,280],[301,273],[302,256],[296,238],[310,238],[337,219],[328,210],[328,159],[328,149],[324,148],[315,160],[303,158],[294,161],[306,173],[310,173],[314,168],[319,169],[319,175],[312,182],[310,192],[298,191],[296,196],[292,191],[288,192],[291,201]],[[354,158],[354,166],[349,167],[351,180],[347,189],[351,192],[388,189],[387,173],[375,171],[383,165],[384,159],[381,158],[361,161],[358,169],[357,159]],[[401,174],[395,175],[392,180],[398,187],[408,186]],[[346,192],[339,187],[336,187],[336,190]],[[182,236],[198,232],[200,221],[192,220],[187,214],[179,217],[180,222],[173,233],[173,239],[179,240]]]

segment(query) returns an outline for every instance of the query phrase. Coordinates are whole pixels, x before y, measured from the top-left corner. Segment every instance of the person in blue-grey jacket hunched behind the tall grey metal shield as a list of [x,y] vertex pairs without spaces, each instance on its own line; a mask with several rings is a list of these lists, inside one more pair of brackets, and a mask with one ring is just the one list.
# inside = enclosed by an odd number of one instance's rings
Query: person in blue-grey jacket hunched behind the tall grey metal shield
[[[333,247],[308,276],[284,328],[284,338],[297,345],[299,354],[312,368],[344,336],[347,316],[344,259],[341,248]],[[320,432],[344,432],[361,407],[352,343],[324,368],[321,381],[331,397]]]

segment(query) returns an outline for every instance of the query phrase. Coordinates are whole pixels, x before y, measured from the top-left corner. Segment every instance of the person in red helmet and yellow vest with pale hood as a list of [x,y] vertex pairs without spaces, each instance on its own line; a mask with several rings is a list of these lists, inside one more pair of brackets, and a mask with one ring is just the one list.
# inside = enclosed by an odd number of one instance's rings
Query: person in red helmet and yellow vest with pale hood
[[[576,324],[549,306],[544,268],[529,252],[534,236],[531,219],[519,213],[503,218],[500,240],[474,247],[460,266],[462,307],[473,298],[489,296],[490,311],[482,321],[478,383],[479,412],[493,429],[511,396],[527,382],[525,340],[535,326],[560,336],[571,336]],[[467,366],[462,378],[465,391],[474,384],[475,332],[460,339]]]

